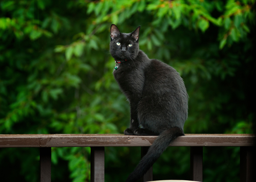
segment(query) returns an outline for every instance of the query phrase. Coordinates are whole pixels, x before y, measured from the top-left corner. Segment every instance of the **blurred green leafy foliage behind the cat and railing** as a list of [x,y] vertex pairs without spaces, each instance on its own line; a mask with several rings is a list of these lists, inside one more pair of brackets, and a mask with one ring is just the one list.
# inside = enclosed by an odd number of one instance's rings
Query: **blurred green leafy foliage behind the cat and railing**
[[[186,133],[253,133],[255,0],[1,0],[0,134],[123,133],[129,104],[112,72],[110,25],[139,25],[140,49],[189,94]],[[254,52],[255,54],[255,52]],[[105,148],[120,182],[139,147]],[[204,182],[239,181],[238,147],[204,147]],[[169,147],[154,180],[189,179],[189,148]],[[1,181],[38,182],[39,149],[0,148]],[[52,148],[53,182],[89,182],[90,148]]]

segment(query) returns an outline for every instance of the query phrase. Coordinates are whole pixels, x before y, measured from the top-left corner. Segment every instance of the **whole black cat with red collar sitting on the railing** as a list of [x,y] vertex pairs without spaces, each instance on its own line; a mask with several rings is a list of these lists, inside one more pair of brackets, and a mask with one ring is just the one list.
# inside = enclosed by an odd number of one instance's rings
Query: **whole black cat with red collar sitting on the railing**
[[110,53],[116,61],[114,78],[131,107],[126,135],[157,136],[126,182],[136,182],[178,136],[183,136],[188,95],[179,73],[159,60],[149,59],[139,50],[140,26],[132,33],[110,28]]

